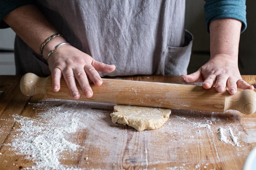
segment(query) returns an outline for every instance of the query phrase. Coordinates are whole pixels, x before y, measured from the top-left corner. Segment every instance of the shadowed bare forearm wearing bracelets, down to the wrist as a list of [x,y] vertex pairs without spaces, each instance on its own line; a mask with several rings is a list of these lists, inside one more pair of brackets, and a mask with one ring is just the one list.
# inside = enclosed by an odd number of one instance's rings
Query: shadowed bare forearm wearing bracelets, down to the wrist
[[[50,35],[58,33],[52,24],[42,15],[34,5],[24,5],[10,12],[3,19],[20,38],[33,49],[41,54],[40,47],[44,40]],[[44,58],[47,57],[49,50],[65,39],[61,36],[52,39],[43,50]]]

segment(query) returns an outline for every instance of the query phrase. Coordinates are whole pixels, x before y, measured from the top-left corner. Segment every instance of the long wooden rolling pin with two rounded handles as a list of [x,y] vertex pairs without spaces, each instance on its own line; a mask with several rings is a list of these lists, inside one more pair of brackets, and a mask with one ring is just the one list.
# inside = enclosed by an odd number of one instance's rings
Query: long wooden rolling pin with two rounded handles
[[[206,90],[196,85],[102,80],[101,86],[94,86],[91,83],[94,92],[91,98],[83,95],[77,83],[81,94],[79,100],[208,112],[224,112],[233,109],[244,114],[252,114],[256,111],[256,93],[253,90],[242,90],[235,95],[230,95],[228,91],[218,93],[214,87]],[[53,92],[51,76],[41,78],[27,73],[20,81],[20,89],[27,96],[44,94],[49,98],[74,100],[63,78],[60,81],[60,90]]]

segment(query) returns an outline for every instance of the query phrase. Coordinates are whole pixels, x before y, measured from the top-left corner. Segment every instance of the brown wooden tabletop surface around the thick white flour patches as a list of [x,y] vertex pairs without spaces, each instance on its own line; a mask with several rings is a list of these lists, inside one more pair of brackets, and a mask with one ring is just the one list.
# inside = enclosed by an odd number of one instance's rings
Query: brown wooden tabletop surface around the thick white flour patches
[[[255,75],[243,78],[255,84]],[[122,79],[181,83],[175,76]],[[19,81],[20,77],[0,76],[0,84],[6,87],[4,96],[0,97],[0,169],[3,170],[29,169],[37,163],[32,160],[33,155],[28,159],[27,155],[19,155],[18,151],[11,149],[12,140],[17,138],[16,134],[22,127],[15,123],[14,115],[31,120],[42,119],[43,122],[46,120],[40,115],[47,110],[54,111],[54,108],[63,113],[80,113],[80,128],[66,139],[81,147],[73,153],[63,152],[63,158],[59,158],[60,165],[74,169],[242,169],[247,155],[256,146],[256,114],[245,115],[231,110],[223,114],[172,109],[162,128],[137,132],[111,122],[109,114],[113,111],[113,104],[51,100],[44,95],[30,98],[19,91]],[[46,101],[46,107],[42,107]],[[51,114],[54,118],[57,112]],[[225,130],[228,143],[219,140],[219,128]],[[238,137],[239,146],[229,137],[229,128]]]

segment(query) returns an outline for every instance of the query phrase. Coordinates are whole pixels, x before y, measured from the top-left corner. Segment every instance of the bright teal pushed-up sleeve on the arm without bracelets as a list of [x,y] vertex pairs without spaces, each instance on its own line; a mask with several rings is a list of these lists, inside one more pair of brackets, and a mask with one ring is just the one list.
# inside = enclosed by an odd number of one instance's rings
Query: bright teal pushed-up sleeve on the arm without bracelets
[[208,32],[210,22],[220,18],[233,18],[241,21],[241,33],[247,27],[245,0],[206,0],[204,11]]

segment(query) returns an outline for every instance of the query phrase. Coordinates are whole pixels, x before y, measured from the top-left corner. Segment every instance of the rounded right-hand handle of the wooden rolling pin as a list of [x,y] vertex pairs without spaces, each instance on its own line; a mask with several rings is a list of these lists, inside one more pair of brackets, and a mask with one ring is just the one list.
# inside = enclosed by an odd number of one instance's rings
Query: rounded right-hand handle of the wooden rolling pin
[[233,109],[244,114],[253,114],[256,112],[256,92],[253,90],[242,90],[236,95],[227,95],[225,97],[224,111]]

